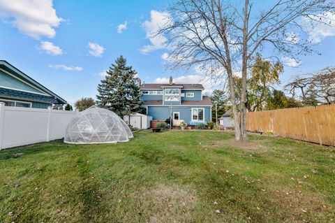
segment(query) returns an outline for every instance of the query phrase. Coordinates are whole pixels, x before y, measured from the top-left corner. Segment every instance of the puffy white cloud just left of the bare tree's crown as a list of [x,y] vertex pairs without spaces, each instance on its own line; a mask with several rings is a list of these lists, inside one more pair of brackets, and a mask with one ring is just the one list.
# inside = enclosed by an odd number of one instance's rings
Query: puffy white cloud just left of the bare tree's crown
[[150,17],[150,20],[146,20],[142,23],[145,34],[151,43],[150,45],[144,45],[142,47],[141,53],[144,55],[154,50],[165,48],[167,38],[163,34],[155,35],[155,33],[171,21],[169,13],[158,12],[157,10],[151,10]]

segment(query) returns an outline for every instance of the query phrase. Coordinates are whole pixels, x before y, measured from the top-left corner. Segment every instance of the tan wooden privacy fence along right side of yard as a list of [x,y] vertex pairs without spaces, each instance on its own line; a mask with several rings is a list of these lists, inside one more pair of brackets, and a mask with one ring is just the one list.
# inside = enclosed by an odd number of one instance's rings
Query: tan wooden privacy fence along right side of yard
[[335,146],[335,105],[247,113],[246,129]]

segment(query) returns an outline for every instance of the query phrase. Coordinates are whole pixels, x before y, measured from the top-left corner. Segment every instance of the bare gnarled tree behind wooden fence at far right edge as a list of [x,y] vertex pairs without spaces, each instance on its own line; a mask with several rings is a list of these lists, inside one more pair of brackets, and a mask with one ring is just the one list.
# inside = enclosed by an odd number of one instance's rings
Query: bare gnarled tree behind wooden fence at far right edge
[[335,67],[302,76],[285,85],[292,97],[300,96],[304,105],[335,103]]

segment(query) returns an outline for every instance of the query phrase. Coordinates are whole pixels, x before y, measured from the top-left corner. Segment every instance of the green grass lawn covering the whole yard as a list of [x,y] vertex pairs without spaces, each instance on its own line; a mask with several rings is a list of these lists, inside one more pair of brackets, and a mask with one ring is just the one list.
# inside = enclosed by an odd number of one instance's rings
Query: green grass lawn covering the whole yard
[[129,143],[4,150],[0,222],[335,221],[334,148],[233,138],[139,131]]

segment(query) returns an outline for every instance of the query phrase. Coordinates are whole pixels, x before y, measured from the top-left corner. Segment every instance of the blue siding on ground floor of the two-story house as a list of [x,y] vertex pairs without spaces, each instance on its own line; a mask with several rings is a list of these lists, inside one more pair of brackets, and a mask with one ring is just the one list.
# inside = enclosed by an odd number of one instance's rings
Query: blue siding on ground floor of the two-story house
[[[187,124],[190,124],[192,118],[192,108],[204,108],[204,122],[211,122],[211,107],[209,106],[172,107],[172,113],[179,112],[179,119],[184,120]],[[171,108],[168,106],[148,106],[147,113],[152,116],[153,120],[168,120],[170,118],[170,110]]]

